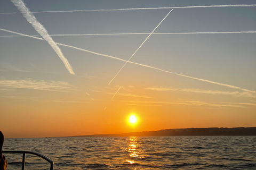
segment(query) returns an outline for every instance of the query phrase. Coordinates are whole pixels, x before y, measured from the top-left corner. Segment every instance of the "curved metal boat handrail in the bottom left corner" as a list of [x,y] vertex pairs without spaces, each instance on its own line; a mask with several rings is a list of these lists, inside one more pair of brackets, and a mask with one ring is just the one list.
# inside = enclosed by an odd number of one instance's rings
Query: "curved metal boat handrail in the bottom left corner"
[[25,169],[25,158],[26,158],[26,154],[32,154],[32,155],[36,155],[36,156],[39,156],[43,159],[45,159],[47,162],[49,162],[51,165],[50,165],[50,170],[53,170],[53,161],[49,158],[47,158],[46,156],[42,155],[42,154],[38,154],[36,152],[31,152],[31,151],[20,151],[20,150],[8,150],[8,151],[3,151],[3,153],[14,153],[14,154],[23,154],[23,157],[22,157],[22,167],[21,167],[21,170],[24,170]]

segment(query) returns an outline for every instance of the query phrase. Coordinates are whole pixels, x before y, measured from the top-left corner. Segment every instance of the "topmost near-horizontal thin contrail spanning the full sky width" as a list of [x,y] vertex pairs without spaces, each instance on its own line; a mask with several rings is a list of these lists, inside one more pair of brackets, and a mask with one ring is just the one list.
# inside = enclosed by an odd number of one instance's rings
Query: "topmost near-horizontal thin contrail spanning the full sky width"
[[[201,7],[253,7],[256,4],[237,5],[204,5],[204,6],[174,6],[174,7],[141,7],[141,8],[120,8],[112,10],[73,10],[73,11],[36,11],[32,13],[59,13],[59,12],[99,12],[99,11],[129,11],[129,10],[163,10],[171,8],[201,8]],[[0,14],[17,14],[18,12],[2,12]]]

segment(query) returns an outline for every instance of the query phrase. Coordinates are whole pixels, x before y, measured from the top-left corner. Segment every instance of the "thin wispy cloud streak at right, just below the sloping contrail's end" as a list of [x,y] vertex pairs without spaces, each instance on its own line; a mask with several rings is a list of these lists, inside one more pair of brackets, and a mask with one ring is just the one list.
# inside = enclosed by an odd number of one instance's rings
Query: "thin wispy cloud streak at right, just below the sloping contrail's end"
[[212,94],[212,95],[232,95],[241,97],[254,97],[250,92],[239,92],[239,91],[220,91],[220,90],[203,90],[203,89],[185,89],[185,88],[173,88],[173,87],[148,87],[147,90],[155,91],[182,91],[182,92],[194,92],[197,94]]

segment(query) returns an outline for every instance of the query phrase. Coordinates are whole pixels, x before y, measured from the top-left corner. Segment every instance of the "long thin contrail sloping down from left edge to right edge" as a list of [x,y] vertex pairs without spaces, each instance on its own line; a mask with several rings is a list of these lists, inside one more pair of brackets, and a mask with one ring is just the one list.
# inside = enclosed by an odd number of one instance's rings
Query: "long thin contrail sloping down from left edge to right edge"
[[[35,39],[44,40],[43,38],[33,37],[33,36],[25,35],[25,34],[19,33],[19,32],[14,32],[14,31],[10,31],[10,30],[5,30],[5,29],[1,29],[1,28],[0,28],[0,30],[6,31],[6,32],[10,32],[10,33],[15,33],[15,34],[17,34],[17,35],[22,35],[22,36],[26,36],[26,37],[30,37],[30,38],[35,38]],[[90,50],[86,50],[86,49],[83,49],[83,48],[78,48],[78,47],[69,46],[69,45],[60,44],[60,43],[56,43],[56,44],[61,45],[61,46],[66,46],[66,47],[74,48],[74,49],[78,49],[78,50],[82,50],[82,51],[84,51],[84,52],[92,53],[92,54],[95,54],[95,55],[100,55],[100,56],[104,56],[104,57],[113,58],[113,59],[115,59],[115,60],[127,62],[126,60],[123,60],[123,59],[121,59],[121,58],[117,58],[117,57],[110,56],[110,55],[106,55],[106,54],[95,53],[95,52],[92,52],[92,51],[90,51]],[[241,89],[241,90],[246,91],[246,92],[249,92],[249,91],[251,91],[251,92],[256,92],[256,91],[252,91],[252,90],[242,89],[242,88],[240,88],[240,87],[232,86],[232,85],[229,85],[229,84],[214,82],[214,81],[205,80],[205,79],[198,79],[198,78],[190,77],[190,76],[188,76],[188,75],[173,73],[173,72],[170,72],[170,71],[158,69],[158,68],[156,68],[156,67],[149,66],[149,65],[145,65],[145,64],[135,63],[135,62],[131,62],[131,61],[129,61],[128,63],[136,64],[136,65],[140,65],[140,66],[144,66],[144,67],[148,67],[148,68],[150,68],[150,69],[155,69],[155,70],[159,70],[159,71],[166,72],[166,73],[171,73],[171,74],[175,74],[175,75],[180,75],[180,76],[182,76],[182,77],[186,77],[186,78],[190,78],[190,79],[194,79],[194,80],[199,80],[199,81],[209,82],[209,83],[212,83],[212,84],[217,84],[217,85],[219,85],[219,86],[225,86],[225,87],[229,87],[229,88],[233,88],[233,89]]]

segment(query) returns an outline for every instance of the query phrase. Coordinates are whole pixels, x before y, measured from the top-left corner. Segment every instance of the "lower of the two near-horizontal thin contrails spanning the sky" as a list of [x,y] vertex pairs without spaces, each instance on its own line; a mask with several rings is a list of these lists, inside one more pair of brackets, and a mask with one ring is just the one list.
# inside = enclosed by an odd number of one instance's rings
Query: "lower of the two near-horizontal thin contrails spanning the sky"
[[[229,32],[153,32],[154,35],[182,35],[182,34],[229,34],[229,33],[256,33],[256,31],[229,31]],[[115,35],[147,35],[150,32],[138,33],[84,33],[84,34],[52,34],[50,36],[115,36]],[[38,37],[38,35],[31,35]],[[0,37],[27,37],[27,36],[0,36]]]

